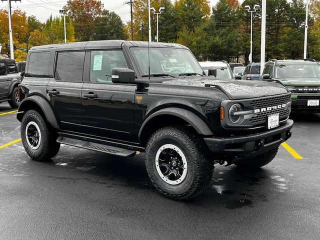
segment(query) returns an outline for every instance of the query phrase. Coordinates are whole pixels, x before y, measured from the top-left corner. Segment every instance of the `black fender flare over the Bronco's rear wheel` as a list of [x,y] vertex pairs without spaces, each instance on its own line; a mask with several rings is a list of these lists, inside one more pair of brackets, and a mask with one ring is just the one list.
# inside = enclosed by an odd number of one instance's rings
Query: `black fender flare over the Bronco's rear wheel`
[[28,105],[30,102],[33,102],[40,107],[47,122],[52,127],[54,127],[55,129],[60,128],[57,121],[56,121],[55,115],[53,113],[53,110],[52,110],[50,104],[43,97],[38,96],[38,95],[26,97],[20,102],[18,112],[16,113],[16,119],[18,119],[19,121],[22,120],[22,117],[23,117],[25,111],[29,110]]

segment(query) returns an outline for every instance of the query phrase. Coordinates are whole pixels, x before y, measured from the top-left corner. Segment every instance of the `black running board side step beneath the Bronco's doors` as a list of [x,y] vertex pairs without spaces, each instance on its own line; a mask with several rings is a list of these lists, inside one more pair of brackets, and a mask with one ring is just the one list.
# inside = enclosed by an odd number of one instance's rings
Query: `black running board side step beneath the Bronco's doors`
[[89,142],[89,141],[74,139],[74,138],[65,137],[65,136],[59,136],[56,139],[56,142],[65,144],[65,145],[81,147],[89,150],[100,151],[100,152],[117,155],[117,156],[134,156],[136,153],[136,151],[133,151],[133,150],[123,149],[115,146],[103,145],[95,142]]

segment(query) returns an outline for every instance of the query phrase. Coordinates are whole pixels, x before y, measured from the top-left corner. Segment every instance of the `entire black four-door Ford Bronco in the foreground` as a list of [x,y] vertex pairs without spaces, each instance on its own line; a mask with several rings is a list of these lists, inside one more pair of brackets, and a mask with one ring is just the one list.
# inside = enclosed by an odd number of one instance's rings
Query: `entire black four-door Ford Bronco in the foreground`
[[178,200],[203,191],[215,163],[267,164],[293,124],[286,87],[205,76],[190,50],[172,43],[32,47],[20,97],[17,119],[32,159],[55,156],[60,144],[145,152],[153,185]]

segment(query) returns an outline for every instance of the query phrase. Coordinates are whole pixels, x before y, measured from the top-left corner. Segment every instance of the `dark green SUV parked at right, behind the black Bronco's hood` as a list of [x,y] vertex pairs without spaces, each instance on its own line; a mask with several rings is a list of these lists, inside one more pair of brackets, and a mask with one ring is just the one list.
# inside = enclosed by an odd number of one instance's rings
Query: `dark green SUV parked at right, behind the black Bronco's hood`
[[320,112],[320,64],[314,59],[272,59],[261,78],[282,83],[291,91],[292,112]]

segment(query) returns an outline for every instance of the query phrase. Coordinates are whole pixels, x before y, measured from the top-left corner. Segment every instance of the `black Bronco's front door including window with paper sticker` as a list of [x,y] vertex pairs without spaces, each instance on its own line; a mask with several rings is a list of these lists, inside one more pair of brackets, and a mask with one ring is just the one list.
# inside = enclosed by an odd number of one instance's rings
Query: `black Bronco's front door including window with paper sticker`
[[133,138],[135,84],[111,81],[113,67],[127,67],[121,49],[92,50],[86,56],[81,93],[83,131],[109,139]]

